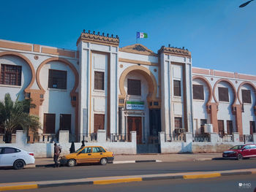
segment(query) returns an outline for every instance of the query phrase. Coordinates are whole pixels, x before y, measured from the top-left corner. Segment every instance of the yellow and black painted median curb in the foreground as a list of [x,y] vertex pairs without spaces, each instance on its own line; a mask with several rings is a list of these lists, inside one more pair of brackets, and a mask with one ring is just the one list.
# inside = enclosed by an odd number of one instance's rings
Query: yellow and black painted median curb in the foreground
[[256,169],[240,169],[220,172],[187,172],[187,173],[171,173],[171,174],[146,174],[134,176],[117,176],[117,177],[94,177],[72,180],[49,180],[38,182],[23,183],[0,183],[0,191],[21,190],[32,188],[50,188],[64,185],[108,185],[114,183],[130,183],[146,180],[175,180],[175,179],[200,179],[225,177],[229,175],[256,174]]

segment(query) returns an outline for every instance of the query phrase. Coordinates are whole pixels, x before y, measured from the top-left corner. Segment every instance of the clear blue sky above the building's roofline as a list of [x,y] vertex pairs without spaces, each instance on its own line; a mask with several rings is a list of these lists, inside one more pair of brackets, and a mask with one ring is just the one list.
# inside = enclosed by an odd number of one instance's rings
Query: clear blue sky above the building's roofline
[[192,65],[256,75],[256,1],[1,0],[0,39],[76,50],[83,29],[114,34],[120,47],[185,47]]

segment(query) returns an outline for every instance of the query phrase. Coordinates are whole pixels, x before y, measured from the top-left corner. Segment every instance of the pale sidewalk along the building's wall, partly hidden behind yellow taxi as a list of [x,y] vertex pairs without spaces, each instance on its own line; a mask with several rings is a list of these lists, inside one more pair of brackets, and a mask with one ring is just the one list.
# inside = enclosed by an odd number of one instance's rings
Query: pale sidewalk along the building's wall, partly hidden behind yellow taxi
[[[222,158],[222,153],[115,155],[113,163],[135,163],[132,161],[206,161],[211,160],[212,158]],[[53,158],[36,158],[36,166],[48,164],[53,164]]]

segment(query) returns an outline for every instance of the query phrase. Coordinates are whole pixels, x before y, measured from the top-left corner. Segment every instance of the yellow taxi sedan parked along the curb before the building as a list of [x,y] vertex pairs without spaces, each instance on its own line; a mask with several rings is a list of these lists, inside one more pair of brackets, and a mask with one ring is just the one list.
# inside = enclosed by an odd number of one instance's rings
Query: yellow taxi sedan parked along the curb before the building
[[112,163],[114,160],[113,152],[106,150],[101,146],[80,147],[74,153],[64,155],[60,159],[61,164],[75,166],[76,164],[99,163],[102,165]]

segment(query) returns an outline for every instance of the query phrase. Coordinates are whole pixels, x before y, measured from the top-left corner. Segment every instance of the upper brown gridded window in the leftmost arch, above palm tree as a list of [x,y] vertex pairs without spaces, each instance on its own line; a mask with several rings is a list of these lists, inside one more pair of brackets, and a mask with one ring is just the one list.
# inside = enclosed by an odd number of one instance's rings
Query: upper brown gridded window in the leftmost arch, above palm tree
[[1,64],[0,84],[21,85],[21,66]]

